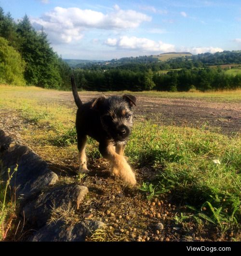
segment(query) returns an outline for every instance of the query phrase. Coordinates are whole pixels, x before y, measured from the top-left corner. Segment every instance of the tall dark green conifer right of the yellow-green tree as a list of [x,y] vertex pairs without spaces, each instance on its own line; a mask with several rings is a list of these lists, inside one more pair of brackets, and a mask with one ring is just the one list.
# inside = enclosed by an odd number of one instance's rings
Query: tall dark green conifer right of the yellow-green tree
[[59,73],[57,54],[47,40],[47,35],[37,33],[27,15],[17,24],[20,52],[26,62],[25,79],[28,85],[44,88],[59,88],[62,79]]

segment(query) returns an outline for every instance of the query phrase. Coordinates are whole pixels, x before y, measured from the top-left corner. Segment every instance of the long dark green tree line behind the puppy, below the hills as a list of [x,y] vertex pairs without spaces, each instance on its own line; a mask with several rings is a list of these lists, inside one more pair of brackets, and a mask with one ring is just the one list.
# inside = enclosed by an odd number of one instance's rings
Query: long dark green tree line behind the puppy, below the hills
[[77,86],[88,91],[188,91],[231,90],[241,87],[241,74],[229,75],[221,68],[182,69],[161,72],[75,69]]

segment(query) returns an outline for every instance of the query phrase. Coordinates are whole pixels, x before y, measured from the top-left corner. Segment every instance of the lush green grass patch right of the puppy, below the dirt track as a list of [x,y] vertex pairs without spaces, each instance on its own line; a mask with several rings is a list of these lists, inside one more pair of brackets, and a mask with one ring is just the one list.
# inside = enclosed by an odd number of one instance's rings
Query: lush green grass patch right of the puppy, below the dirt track
[[[136,145],[138,145],[136,147]],[[144,123],[134,127],[126,152],[133,163],[152,166],[157,173],[147,194],[171,191],[177,201],[201,209],[213,217],[214,205],[228,223],[241,217],[241,138],[228,138],[204,129],[159,127]],[[220,164],[214,163],[219,160]],[[153,190],[156,190],[153,192]],[[226,220],[226,221],[227,221]]]

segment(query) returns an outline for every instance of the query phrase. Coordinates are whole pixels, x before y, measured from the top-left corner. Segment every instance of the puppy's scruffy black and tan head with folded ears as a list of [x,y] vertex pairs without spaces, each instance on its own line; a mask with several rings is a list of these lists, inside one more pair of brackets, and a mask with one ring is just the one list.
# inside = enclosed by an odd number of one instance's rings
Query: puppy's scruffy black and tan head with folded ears
[[100,114],[103,128],[116,142],[124,142],[131,133],[133,125],[132,107],[136,98],[133,95],[100,97],[92,107]]

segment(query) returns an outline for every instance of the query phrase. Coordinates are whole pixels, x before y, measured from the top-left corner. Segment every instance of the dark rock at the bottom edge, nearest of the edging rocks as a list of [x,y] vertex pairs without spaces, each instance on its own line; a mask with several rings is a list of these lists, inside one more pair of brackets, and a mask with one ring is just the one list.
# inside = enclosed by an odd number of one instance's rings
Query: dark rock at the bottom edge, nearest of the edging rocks
[[45,225],[28,240],[29,242],[83,242],[98,228],[105,224],[101,221],[80,222],[66,225],[63,220]]

